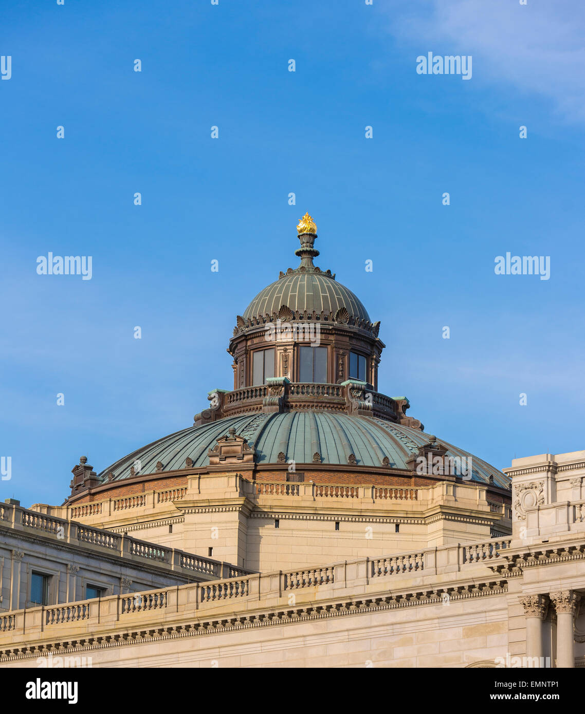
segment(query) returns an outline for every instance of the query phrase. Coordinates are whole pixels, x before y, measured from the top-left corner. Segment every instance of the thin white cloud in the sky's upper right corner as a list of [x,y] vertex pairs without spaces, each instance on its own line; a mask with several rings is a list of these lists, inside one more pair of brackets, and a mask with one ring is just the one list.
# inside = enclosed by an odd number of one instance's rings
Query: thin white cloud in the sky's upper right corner
[[471,54],[476,81],[503,81],[551,100],[559,118],[585,121],[582,0],[393,2],[389,16],[416,54]]

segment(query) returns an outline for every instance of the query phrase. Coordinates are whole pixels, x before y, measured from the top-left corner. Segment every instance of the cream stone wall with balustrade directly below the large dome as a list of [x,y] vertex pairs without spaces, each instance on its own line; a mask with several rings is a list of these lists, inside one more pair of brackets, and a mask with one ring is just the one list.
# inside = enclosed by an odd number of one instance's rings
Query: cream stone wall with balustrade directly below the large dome
[[510,506],[474,483],[394,488],[249,481],[237,471],[186,481],[173,501],[146,491],[42,508],[167,547],[206,554],[211,548],[214,558],[261,572],[511,533]]

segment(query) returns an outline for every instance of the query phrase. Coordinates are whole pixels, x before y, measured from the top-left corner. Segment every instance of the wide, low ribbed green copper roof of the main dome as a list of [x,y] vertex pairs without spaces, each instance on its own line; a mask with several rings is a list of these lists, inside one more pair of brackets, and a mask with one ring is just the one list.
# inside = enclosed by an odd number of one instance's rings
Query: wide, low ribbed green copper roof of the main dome
[[[187,457],[192,459],[194,468],[207,466],[207,452],[231,426],[236,434],[244,436],[254,447],[255,460],[259,464],[278,463],[279,452],[286,455],[287,461],[294,459],[299,464],[312,463],[314,453],[319,451],[321,463],[324,464],[346,465],[349,455],[353,453],[357,466],[381,467],[382,460],[387,456],[391,468],[406,469],[410,456],[430,440],[428,434],[407,426],[344,413],[256,413],[232,416],[169,434],[116,461],[105,468],[99,478],[107,481],[110,472],[114,481],[129,478],[130,468],[135,466],[136,461],[140,462],[140,469],[136,469],[139,476],[156,473],[158,461],[163,465],[163,473],[185,468]],[[448,448],[448,456],[471,456],[438,437],[437,440]],[[508,488],[509,479],[503,473],[474,456],[473,481],[488,483],[489,476],[494,476],[496,486]]]

